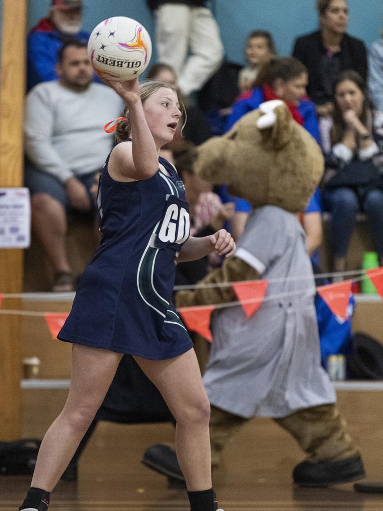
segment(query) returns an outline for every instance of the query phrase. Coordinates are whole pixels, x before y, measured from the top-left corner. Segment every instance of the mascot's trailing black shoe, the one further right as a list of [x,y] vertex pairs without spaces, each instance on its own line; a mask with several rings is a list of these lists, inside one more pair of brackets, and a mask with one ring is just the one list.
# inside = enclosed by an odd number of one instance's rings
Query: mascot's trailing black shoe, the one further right
[[302,461],[293,471],[293,479],[299,486],[331,486],[357,481],[366,477],[361,456],[338,461]]

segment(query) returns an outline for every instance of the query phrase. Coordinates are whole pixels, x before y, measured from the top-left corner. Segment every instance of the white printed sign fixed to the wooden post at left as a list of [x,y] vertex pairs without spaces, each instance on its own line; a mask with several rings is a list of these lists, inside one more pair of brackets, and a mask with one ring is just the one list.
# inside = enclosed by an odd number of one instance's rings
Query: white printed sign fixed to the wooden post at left
[[30,243],[28,188],[0,188],[0,248],[27,248]]

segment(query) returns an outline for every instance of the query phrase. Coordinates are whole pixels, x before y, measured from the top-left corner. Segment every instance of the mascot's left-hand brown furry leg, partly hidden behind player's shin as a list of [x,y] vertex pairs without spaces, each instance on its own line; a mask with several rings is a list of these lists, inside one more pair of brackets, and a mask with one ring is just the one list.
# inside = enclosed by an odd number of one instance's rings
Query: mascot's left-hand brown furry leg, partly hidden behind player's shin
[[224,447],[247,421],[245,417],[233,415],[211,405],[209,429],[212,469],[219,467]]

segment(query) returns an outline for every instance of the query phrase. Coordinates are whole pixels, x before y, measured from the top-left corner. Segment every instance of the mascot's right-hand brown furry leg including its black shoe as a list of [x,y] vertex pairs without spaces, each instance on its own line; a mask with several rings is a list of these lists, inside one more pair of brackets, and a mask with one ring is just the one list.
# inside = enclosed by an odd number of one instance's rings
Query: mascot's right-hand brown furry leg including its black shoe
[[300,486],[329,486],[365,477],[360,450],[346,432],[336,404],[304,408],[274,420],[309,455],[293,472]]

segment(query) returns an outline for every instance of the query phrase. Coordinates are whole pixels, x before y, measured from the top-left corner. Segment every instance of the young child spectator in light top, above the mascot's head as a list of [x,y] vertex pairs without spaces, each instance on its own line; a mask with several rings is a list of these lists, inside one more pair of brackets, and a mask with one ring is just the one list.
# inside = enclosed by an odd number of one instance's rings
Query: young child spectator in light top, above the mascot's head
[[248,97],[254,87],[259,69],[277,54],[273,36],[266,30],[254,30],[246,39],[245,58],[246,65],[241,69],[238,76],[238,88],[240,97]]

